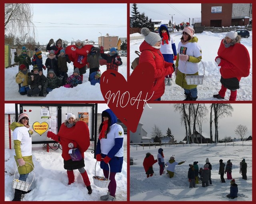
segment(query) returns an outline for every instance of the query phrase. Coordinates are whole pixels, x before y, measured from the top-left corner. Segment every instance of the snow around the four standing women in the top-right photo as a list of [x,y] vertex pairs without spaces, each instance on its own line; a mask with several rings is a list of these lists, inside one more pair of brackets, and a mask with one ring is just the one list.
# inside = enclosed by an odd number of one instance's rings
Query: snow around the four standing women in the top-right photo
[[[252,31],[250,32],[250,37],[242,38],[241,43],[248,49],[250,54],[250,75],[246,78],[240,80],[240,89],[237,92],[236,100],[248,101],[252,100]],[[174,38],[176,48],[180,42],[182,31],[176,31],[171,33]],[[194,36],[198,38],[198,45],[202,48],[202,61],[205,67],[204,82],[202,85],[198,85],[198,99],[197,100],[219,100],[213,98],[213,94],[218,94],[220,90],[220,71],[218,65],[214,61],[217,56],[218,48],[220,46],[221,40],[225,37],[226,33],[212,33],[209,31],[204,31],[203,33],[196,33]],[[140,51],[140,44],[144,41],[144,36],[140,33],[134,33],[130,35],[130,64],[132,61],[138,57],[134,51]],[[241,59],[242,60],[242,59]],[[132,69],[130,68],[130,75],[132,74]],[[203,75],[203,66],[200,63],[199,75]],[[175,84],[175,75],[172,75],[172,85],[165,86],[164,95],[161,100],[175,101],[184,100],[184,90],[180,86]],[[225,100],[228,100],[230,96],[230,90],[227,90]]]

